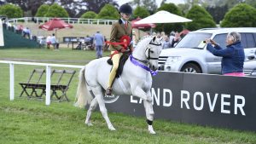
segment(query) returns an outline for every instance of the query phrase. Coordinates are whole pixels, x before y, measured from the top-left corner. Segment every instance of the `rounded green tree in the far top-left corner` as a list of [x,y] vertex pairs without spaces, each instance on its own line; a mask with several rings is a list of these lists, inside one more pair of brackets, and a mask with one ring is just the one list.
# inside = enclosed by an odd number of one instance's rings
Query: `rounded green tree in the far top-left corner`
[[6,15],[9,18],[20,18],[23,16],[23,11],[14,4],[4,4],[0,7],[0,14]]

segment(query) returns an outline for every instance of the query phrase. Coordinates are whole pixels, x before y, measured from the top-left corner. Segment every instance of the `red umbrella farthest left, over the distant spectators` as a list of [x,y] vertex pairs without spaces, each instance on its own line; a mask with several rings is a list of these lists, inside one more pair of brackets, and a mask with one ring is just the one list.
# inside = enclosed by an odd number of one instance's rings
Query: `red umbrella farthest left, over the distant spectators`
[[64,20],[54,18],[52,20],[49,20],[48,22],[44,23],[43,25],[39,26],[39,28],[45,30],[45,31],[54,31],[55,30],[55,37],[56,37],[56,31],[63,28],[73,28],[72,25],[67,24]]

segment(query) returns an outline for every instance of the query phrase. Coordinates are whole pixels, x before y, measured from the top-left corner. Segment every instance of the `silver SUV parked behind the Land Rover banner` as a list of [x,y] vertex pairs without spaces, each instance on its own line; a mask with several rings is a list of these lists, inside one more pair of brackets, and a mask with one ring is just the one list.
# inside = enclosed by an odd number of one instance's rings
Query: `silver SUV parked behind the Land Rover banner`
[[[207,51],[207,44],[203,41],[211,38],[222,48],[226,48],[225,39],[229,32],[239,32],[244,46],[246,60],[255,57],[256,28],[205,28],[189,32],[177,43],[175,48],[163,49],[159,57],[159,67],[162,71],[212,73],[221,72],[221,57]],[[255,67],[247,67],[255,68]]]

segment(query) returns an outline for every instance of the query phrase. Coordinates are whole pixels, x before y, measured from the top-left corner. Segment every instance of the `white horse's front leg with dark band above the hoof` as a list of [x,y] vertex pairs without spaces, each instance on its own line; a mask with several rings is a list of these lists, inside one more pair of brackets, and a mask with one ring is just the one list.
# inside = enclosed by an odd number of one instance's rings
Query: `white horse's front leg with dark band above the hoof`
[[148,90],[148,92],[146,93],[143,89],[137,87],[132,95],[143,99],[143,104],[145,107],[147,123],[148,123],[148,131],[150,134],[155,134],[152,126],[153,120],[154,120],[154,110],[153,110],[152,97],[151,97],[150,91]]

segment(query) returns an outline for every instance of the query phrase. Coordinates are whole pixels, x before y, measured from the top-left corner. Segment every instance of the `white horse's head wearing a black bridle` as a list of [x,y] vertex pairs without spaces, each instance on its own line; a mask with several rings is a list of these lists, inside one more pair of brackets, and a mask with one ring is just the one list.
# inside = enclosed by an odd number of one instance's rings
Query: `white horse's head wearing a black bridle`
[[149,61],[149,68],[154,71],[158,69],[158,58],[161,50],[162,44],[160,43],[160,39],[156,37],[153,37],[145,49],[145,55]]

